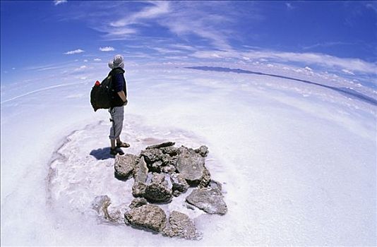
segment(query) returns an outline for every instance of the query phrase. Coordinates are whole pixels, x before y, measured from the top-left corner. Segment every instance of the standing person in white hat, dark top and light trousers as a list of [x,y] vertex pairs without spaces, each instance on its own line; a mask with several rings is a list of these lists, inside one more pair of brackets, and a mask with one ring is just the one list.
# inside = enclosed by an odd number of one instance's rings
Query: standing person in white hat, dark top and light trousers
[[127,88],[126,80],[124,79],[124,59],[121,55],[114,56],[112,61],[109,61],[111,76],[111,106],[109,108],[110,121],[112,127],[110,128],[110,155],[124,155],[120,147],[129,147],[128,143],[121,141],[120,135],[123,128],[124,106],[127,104]]

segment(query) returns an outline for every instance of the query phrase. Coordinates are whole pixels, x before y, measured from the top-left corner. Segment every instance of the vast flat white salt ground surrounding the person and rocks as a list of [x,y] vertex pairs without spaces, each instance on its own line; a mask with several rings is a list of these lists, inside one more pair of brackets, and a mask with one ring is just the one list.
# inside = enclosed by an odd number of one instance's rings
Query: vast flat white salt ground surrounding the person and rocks
[[[117,181],[112,159],[95,157],[109,146],[110,123],[90,107],[103,75],[92,77],[1,85],[2,244],[376,244],[376,106],[282,78],[173,66],[126,75],[126,152],[159,140],[208,145],[227,215],[191,212],[201,241],[98,222],[93,196],[127,205],[121,186],[131,181]],[[51,166],[59,167],[52,182]]]

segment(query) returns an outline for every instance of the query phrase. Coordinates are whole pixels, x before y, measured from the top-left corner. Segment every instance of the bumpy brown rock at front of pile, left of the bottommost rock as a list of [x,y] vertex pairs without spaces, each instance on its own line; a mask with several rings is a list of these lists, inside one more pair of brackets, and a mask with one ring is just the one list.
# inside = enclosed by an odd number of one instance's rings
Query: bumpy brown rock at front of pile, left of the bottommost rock
[[164,210],[156,205],[134,207],[124,214],[124,222],[136,227],[143,227],[153,231],[162,231],[167,219]]

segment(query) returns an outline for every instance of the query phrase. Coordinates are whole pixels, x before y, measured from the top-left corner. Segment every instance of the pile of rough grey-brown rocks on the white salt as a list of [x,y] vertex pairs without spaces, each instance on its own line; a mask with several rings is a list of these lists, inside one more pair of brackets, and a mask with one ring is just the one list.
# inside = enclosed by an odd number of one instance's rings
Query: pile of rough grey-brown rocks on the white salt
[[[182,212],[172,211],[167,217],[164,210],[151,203],[170,203],[174,197],[196,187],[186,197],[186,202],[208,214],[224,215],[227,205],[223,200],[220,183],[211,180],[210,171],[205,167],[208,147],[197,149],[174,147],[166,142],[146,147],[140,155],[117,155],[114,175],[117,179],[133,176],[132,195],[135,197],[124,213],[124,222],[134,227],[161,232],[164,236],[184,239],[198,239],[192,219]],[[107,219],[109,198],[98,198],[102,203],[95,210]]]

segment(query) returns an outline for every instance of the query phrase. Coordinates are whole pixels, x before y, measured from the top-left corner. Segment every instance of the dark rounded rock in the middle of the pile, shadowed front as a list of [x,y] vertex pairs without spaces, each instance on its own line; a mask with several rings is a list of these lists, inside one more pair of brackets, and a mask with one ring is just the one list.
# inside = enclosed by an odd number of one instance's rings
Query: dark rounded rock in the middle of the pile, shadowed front
[[161,183],[150,183],[146,186],[143,197],[150,202],[169,203],[172,201],[172,189]]

